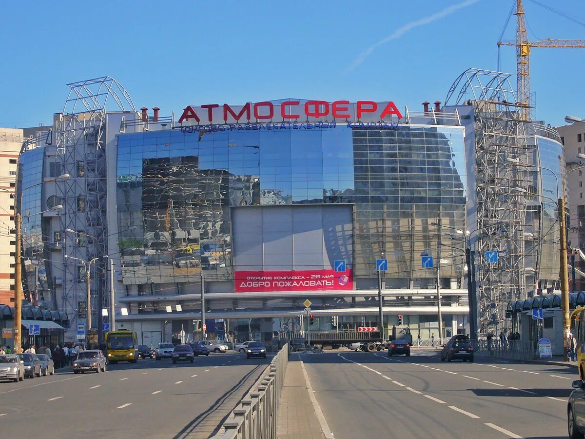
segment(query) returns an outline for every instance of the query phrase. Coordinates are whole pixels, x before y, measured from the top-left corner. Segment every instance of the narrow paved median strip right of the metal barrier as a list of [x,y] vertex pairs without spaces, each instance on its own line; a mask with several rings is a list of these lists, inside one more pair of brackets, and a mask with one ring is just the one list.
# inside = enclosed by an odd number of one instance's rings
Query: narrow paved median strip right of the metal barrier
[[307,389],[299,355],[292,354],[284,374],[276,423],[278,439],[325,438]]

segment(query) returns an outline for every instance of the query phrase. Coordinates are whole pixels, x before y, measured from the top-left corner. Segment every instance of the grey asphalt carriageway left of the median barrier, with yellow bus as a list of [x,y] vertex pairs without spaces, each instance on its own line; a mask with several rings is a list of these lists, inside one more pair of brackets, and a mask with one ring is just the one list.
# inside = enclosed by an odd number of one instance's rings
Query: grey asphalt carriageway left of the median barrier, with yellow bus
[[[269,354],[270,355],[270,354]],[[140,359],[105,373],[0,383],[0,437],[207,438],[270,363],[242,354]]]

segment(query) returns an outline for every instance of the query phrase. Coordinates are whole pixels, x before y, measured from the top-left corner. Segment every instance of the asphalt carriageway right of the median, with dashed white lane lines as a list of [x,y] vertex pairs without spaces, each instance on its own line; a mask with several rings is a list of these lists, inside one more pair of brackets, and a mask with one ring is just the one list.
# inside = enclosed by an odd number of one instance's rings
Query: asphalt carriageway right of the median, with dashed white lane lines
[[336,438],[566,438],[576,369],[328,351],[302,355]]

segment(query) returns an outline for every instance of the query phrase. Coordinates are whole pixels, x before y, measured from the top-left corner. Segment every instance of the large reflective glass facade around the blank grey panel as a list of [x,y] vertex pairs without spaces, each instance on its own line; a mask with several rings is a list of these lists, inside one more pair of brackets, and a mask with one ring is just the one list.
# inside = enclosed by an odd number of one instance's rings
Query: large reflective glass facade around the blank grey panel
[[198,283],[201,270],[233,280],[230,207],[331,203],[355,206],[358,288],[381,252],[387,284],[434,278],[423,251],[439,256],[441,276],[461,277],[463,243],[439,255],[437,242],[466,228],[463,142],[462,127],[436,125],[119,135],[123,282]]

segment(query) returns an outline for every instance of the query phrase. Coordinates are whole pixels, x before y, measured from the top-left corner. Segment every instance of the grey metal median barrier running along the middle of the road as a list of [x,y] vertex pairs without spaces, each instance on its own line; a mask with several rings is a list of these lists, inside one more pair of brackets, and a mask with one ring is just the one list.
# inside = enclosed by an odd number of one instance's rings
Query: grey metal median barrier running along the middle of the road
[[215,439],[276,437],[278,403],[287,365],[288,344],[285,343],[252,385],[250,392],[233,409],[229,419],[223,423],[223,433],[215,435]]

